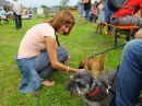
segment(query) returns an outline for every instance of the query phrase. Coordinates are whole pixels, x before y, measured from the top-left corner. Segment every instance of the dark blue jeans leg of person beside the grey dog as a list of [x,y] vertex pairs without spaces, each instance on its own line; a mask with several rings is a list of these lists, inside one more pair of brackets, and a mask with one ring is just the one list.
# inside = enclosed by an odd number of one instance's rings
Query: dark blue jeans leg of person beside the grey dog
[[111,106],[135,106],[142,90],[142,39],[130,40],[123,48]]

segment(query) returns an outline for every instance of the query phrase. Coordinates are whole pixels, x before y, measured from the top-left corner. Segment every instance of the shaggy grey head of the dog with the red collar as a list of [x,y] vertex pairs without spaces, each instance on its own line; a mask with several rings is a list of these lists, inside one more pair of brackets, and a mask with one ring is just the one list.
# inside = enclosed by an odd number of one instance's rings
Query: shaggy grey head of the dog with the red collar
[[79,72],[71,75],[71,79],[72,81],[67,83],[67,90],[74,97],[88,94],[94,89],[102,85],[100,82],[87,70],[79,70]]

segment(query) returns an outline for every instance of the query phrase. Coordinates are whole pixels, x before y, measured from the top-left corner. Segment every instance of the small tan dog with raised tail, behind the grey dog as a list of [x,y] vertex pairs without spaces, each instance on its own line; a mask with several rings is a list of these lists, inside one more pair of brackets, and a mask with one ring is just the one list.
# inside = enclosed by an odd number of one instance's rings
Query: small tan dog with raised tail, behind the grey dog
[[100,74],[105,73],[105,66],[104,59],[106,57],[106,52],[104,52],[100,58],[96,57],[88,57],[80,61],[79,69],[91,70],[92,74],[95,76],[99,76]]

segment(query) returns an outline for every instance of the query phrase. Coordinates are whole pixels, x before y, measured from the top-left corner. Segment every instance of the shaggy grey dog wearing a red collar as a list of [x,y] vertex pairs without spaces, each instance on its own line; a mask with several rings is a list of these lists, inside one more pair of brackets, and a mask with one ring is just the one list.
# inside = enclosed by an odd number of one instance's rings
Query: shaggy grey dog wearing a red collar
[[85,106],[109,106],[115,95],[117,70],[94,76],[87,70],[79,70],[71,75],[66,89],[73,97],[83,96]]

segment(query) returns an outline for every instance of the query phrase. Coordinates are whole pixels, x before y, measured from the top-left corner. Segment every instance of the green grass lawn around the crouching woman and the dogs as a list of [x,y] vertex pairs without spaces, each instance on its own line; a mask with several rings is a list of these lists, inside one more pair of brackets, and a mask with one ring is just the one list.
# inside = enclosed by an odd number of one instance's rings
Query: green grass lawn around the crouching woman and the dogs
[[[78,68],[80,60],[114,47],[114,36],[94,34],[96,24],[76,23],[68,37],[60,36],[61,46],[64,46],[71,57],[70,67]],[[54,72],[49,79],[56,81],[52,87],[40,86],[35,93],[22,94],[17,87],[22,75],[15,64],[13,56],[16,54],[21,39],[28,28],[45,19],[23,20],[22,30],[15,30],[14,23],[0,24],[0,106],[83,106],[82,97],[72,98],[66,90],[66,83],[72,73]],[[125,37],[118,38],[121,44]],[[107,52],[105,67],[116,69],[120,62],[122,48]],[[97,56],[99,57],[99,56]]]

